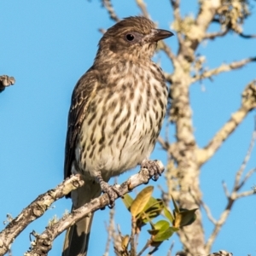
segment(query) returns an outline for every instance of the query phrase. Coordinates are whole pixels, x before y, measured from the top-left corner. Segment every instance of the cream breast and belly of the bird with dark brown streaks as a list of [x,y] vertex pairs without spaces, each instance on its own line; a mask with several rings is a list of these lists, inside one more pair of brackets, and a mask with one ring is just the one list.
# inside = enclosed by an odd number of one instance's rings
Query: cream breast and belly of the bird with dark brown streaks
[[[122,73],[123,74],[122,74]],[[113,177],[149,157],[166,113],[167,89],[155,65],[113,67],[90,100],[76,159],[85,175]]]

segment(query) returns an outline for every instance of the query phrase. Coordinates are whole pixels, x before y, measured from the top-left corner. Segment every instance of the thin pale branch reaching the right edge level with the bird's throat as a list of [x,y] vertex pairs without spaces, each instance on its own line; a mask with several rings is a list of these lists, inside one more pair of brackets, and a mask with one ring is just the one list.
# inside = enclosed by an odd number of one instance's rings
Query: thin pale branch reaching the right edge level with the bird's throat
[[228,72],[233,69],[241,68],[245,66],[247,63],[253,62],[253,61],[256,61],[256,57],[247,58],[242,61],[234,61],[234,62],[231,62],[230,64],[222,64],[217,68],[213,68],[212,70],[195,75],[191,80],[191,84],[195,83],[198,80],[211,78],[213,75],[218,75],[219,73]]

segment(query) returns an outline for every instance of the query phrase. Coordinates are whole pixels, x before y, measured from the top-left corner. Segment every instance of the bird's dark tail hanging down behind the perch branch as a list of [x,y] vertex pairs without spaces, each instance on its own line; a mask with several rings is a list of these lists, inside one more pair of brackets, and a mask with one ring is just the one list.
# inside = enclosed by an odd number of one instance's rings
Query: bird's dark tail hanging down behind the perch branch
[[[83,206],[101,195],[101,187],[93,181],[86,181],[83,187],[72,192],[73,209]],[[66,233],[62,256],[86,256],[90,238],[93,213],[73,224]]]

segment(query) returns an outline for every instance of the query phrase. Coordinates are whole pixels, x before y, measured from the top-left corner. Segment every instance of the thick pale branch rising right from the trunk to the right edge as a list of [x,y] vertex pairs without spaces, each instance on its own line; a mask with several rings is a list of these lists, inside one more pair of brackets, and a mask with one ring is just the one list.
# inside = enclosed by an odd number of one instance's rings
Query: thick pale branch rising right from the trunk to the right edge
[[235,131],[236,127],[241,124],[242,120],[247,116],[253,108],[256,108],[256,81],[252,81],[247,85],[242,93],[241,108],[231,115],[230,120],[217,132],[207,147],[197,149],[199,165],[209,160],[224,141]]

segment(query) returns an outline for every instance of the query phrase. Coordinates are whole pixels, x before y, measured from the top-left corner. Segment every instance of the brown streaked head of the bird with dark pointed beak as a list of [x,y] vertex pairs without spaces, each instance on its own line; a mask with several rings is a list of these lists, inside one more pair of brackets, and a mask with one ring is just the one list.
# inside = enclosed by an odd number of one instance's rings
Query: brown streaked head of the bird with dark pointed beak
[[156,29],[154,22],[145,17],[125,18],[105,32],[97,57],[148,59],[154,55],[159,40],[172,36],[172,32]]

